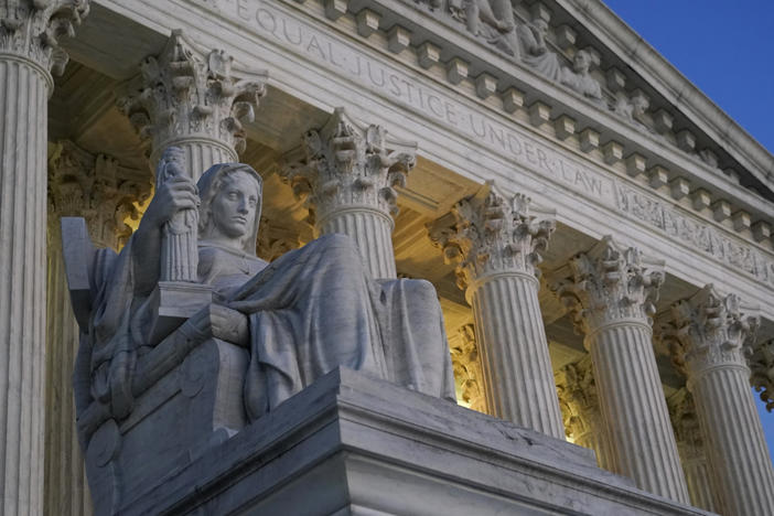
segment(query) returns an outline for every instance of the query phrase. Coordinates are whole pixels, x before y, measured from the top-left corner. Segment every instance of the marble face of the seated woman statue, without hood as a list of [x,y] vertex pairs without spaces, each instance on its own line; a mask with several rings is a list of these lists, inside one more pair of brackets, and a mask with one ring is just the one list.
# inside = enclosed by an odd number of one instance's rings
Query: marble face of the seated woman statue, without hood
[[260,194],[255,178],[241,171],[229,174],[213,200],[215,229],[228,238],[246,236],[255,224],[259,202]]

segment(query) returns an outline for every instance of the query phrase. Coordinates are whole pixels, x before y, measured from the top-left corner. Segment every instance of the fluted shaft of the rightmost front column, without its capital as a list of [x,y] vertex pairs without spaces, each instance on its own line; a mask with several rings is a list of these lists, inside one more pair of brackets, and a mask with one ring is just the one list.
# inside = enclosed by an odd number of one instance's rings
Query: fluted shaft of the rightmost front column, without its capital
[[710,479],[728,515],[774,514],[774,472],[749,378],[746,367],[719,367],[690,379]]

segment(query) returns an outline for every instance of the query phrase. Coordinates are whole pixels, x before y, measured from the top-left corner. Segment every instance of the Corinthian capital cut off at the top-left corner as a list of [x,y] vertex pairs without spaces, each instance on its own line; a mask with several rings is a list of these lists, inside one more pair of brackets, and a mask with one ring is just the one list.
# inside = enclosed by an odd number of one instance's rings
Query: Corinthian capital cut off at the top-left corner
[[67,54],[58,40],[75,35],[88,9],[88,0],[0,0],[0,54],[26,57],[61,74]]

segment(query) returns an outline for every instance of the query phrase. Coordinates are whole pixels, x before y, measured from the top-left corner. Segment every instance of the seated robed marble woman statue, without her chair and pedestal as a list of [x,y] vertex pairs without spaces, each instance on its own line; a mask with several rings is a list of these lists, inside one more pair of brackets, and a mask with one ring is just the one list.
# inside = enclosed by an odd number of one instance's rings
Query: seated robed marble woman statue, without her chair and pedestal
[[197,184],[175,175],[161,184],[119,255],[98,251],[92,331],[76,367],[79,406],[111,405],[116,390],[131,383],[132,357],[159,344],[144,326],[160,280],[162,227],[186,209],[198,209],[197,280],[212,287],[213,303],[181,330],[247,347],[249,420],[340,365],[453,400],[432,286],[372,279],[344,235],[323,236],[267,264],[256,257],[261,187],[260,175],[241,163],[214,165]]

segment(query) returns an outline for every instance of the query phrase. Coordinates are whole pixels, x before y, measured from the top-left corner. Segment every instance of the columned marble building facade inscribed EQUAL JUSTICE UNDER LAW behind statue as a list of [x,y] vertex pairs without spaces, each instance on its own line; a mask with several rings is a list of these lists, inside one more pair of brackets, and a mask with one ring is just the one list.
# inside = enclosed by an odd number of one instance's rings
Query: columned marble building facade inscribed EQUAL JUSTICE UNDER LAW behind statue
[[0,513],[92,513],[60,218],[120,249],[176,146],[260,257],[431,281],[460,405],[774,514],[774,157],[600,0],[7,0],[0,71]]

